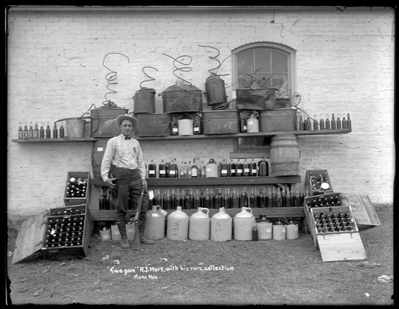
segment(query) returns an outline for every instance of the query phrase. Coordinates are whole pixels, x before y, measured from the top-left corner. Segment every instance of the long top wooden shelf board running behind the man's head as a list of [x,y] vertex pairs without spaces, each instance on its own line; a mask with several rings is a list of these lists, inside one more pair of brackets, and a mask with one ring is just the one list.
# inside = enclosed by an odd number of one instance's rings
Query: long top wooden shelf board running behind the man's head
[[[183,141],[188,139],[238,139],[245,137],[262,137],[274,136],[279,134],[294,135],[331,135],[331,134],[348,134],[352,130],[315,130],[315,131],[287,131],[287,132],[259,132],[259,133],[236,133],[236,134],[199,134],[199,135],[170,135],[170,136],[134,136],[138,141]],[[65,139],[11,139],[14,143],[54,143],[54,142],[71,142],[71,141],[104,141],[110,137],[81,137],[81,138],[65,138]]]

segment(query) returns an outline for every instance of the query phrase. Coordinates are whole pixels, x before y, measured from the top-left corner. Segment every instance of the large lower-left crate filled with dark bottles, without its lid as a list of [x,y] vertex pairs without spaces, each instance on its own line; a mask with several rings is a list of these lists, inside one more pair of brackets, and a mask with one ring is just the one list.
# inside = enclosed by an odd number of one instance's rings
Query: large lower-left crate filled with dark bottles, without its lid
[[[90,211],[87,205],[63,208],[61,216],[47,216],[42,254],[48,260],[86,257],[92,232]],[[50,209],[54,213],[58,209]]]

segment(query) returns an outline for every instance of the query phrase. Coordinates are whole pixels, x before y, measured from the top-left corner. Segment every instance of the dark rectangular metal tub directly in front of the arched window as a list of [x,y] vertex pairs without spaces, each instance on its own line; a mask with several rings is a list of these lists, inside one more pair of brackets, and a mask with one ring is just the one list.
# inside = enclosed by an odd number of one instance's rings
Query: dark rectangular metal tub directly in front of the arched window
[[237,110],[274,110],[276,88],[236,89]]

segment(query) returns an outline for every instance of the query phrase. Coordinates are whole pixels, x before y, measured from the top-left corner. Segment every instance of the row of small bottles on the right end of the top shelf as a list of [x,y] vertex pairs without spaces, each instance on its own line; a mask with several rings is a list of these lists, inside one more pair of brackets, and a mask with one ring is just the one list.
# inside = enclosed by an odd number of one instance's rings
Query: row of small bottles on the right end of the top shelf
[[311,131],[311,130],[350,130],[352,129],[352,121],[350,119],[349,113],[345,118],[345,114],[337,114],[337,119],[335,115],[331,115],[331,120],[328,114],[325,115],[325,120],[323,119],[323,114],[320,115],[320,120],[317,120],[316,115],[314,115],[313,120],[311,117],[306,119],[299,115],[298,131]]

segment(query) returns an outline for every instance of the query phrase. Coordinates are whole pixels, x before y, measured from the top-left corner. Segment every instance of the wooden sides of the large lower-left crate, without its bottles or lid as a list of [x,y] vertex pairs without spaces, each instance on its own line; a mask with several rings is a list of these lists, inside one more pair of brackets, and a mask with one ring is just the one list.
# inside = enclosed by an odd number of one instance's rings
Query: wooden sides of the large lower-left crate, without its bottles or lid
[[[85,214],[76,214],[71,216],[48,216],[46,226],[48,228],[50,220],[61,220],[62,218],[77,218],[78,220],[83,217],[83,237],[81,239],[81,245],[62,245],[59,247],[45,247],[42,248],[42,253],[48,260],[71,260],[76,257],[88,256],[88,245],[90,245],[90,238],[92,228],[92,221],[90,211],[86,211]],[[46,228],[46,234],[47,234]],[[45,235],[46,239],[46,235]]]

